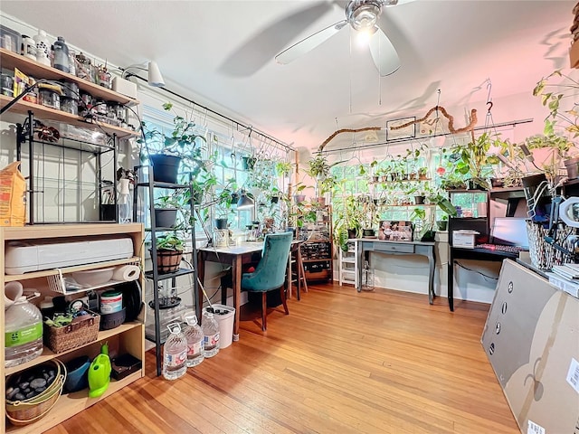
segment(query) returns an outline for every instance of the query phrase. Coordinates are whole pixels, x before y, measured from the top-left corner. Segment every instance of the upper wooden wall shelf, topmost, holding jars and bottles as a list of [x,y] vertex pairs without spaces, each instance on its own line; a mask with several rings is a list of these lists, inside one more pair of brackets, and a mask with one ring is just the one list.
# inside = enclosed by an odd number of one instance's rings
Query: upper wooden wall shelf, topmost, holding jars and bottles
[[76,83],[79,90],[84,90],[98,99],[116,101],[128,106],[135,106],[139,103],[137,99],[132,99],[119,92],[115,92],[114,90],[103,88],[102,86],[91,83],[88,80],[80,79],[76,75],[52,68],[52,66],[46,66],[38,61],[33,61],[32,59],[28,59],[27,57],[16,54],[15,52],[8,51],[5,48],[0,48],[0,63],[2,63],[3,69],[13,70],[14,68],[18,68],[20,71],[23,71],[24,74],[32,76],[36,80],[48,79],[71,81]]

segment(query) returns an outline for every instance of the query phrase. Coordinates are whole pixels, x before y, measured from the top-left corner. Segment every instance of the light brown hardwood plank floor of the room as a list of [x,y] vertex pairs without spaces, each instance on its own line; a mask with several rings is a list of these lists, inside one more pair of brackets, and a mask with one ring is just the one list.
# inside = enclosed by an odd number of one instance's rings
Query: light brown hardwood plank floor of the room
[[519,432],[479,342],[488,305],[337,285],[288,303],[175,382],[148,353],[147,377],[47,432]]

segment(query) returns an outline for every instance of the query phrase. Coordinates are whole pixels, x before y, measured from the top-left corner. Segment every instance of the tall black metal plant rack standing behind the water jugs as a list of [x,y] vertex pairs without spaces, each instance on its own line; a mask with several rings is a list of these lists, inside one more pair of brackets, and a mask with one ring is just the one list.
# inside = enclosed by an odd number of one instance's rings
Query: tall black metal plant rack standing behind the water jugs
[[[197,283],[197,269],[196,269],[196,258],[197,258],[197,249],[195,245],[195,224],[191,224],[189,227],[185,228],[185,230],[191,231],[191,242],[193,246],[192,256],[193,260],[191,261],[191,269],[177,269],[174,272],[170,273],[163,273],[159,274],[157,268],[157,232],[164,232],[164,231],[174,231],[173,228],[160,228],[157,227],[157,222],[155,221],[155,189],[169,189],[169,190],[188,190],[190,193],[190,197],[193,197],[194,189],[192,184],[170,184],[170,183],[161,183],[154,181],[153,176],[153,167],[152,166],[144,166],[144,165],[137,165],[135,166],[135,173],[142,174],[144,171],[143,169],[147,167],[147,182],[138,183],[136,187],[136,191],[133,194],[133,221],[138,221],[138,189],[139,188],[147,188],[148,193],[148,205],[149,205],[149,216],[150,216],[150,233],[151,233],[151,262],[152,262],[152,269],[150,271],[145,272],[145,278],[150,280],[153,284],[153,311],[155,316],[155,351],[157,356],[157,375],[161,374],[161,360],[162,360],[162,353],[161,353],[161,344],[164,344],[161,339],[161,324],[160,324],[160,303],[159,303],[159,294],[158,294],[158,283],[163,280],[171,279],[173,287],[176,286],[176,278],[180,276],[186,276],[193,274],[193,302],[195,303],[195,314],[197,315],[198,320],[201,320],[201,306],[199,303],[196,302],[198,299],[198,283]],[[195,204],[191,201],[191,215],[193,216],[195,212]],[[192,222],[194,223],[194,222]]]

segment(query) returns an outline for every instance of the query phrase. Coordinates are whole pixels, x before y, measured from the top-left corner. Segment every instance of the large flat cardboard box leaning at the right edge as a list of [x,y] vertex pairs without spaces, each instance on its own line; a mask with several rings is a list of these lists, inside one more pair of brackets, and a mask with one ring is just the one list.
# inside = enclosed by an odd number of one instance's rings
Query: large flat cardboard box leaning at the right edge
[[579,432],[579,299],[506,259],[481,344],[521,433]]

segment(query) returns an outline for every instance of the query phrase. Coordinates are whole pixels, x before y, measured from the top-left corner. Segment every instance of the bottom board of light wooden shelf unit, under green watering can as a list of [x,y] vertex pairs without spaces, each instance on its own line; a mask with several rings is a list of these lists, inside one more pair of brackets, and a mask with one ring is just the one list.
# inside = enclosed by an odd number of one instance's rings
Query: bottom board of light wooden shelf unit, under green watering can
[[131,382],[137,381],[142,376],[143,373],[141,369],[136,373],[131,373],[122,380],[115,381],[111,379],[107,392],[104,392],[100,398],[89,398],[89,391],[86,389],[80,392],[63,394],[58,399],[58,401],[56,401],[56,404],[52,410],[50,410],[41,420],[31,423],[30,425],[25,425],[24,427],[14,427],[14,425],[6,421],[6,432],[17,432],[18,434],[37,434],[39,432],[51,429],[62,421],[69,419],[72,415],[82,410],[88,409],[91,405],[104,400],[114,392],[118,392]]

